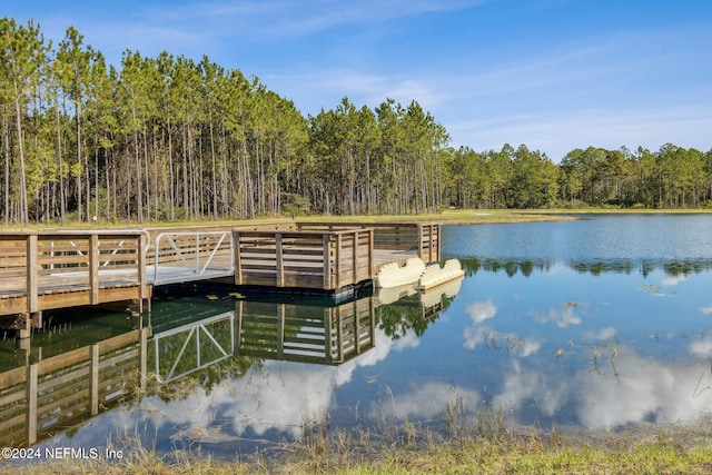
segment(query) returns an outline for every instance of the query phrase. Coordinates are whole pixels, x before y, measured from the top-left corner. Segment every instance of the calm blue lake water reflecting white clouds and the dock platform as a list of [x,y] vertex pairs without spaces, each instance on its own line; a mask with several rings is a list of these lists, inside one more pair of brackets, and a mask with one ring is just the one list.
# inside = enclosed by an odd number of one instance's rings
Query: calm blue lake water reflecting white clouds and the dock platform
[[43,444],[138,434],[234,458],[325,414],[332,428],[438,427],[459,402],[544,429],[709,414],[712,215],[585,218],[445,227],[467,274],[425,296],[161,298],[147,354],[162,386]]

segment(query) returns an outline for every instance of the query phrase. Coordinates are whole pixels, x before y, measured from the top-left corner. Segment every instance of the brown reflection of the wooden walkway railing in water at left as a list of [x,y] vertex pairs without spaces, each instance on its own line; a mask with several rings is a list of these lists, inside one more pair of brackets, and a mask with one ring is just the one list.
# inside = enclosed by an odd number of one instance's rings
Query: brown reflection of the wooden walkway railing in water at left
[[148,334],[132,330],[0,374],[0,445],[32,445],[144,386]]

